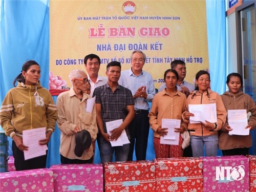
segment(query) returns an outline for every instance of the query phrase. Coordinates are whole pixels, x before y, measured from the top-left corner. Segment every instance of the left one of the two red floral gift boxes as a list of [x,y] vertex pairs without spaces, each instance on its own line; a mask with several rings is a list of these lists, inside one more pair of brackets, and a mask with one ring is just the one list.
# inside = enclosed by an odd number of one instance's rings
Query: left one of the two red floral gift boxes
[[104,163],[105,192],[155,191],[155,163],[149,160]]

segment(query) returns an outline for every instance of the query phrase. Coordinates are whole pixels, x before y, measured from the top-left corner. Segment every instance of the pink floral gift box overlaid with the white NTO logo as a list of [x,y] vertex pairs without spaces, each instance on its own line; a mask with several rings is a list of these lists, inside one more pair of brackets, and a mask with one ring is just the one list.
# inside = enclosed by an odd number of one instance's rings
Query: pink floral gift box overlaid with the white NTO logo
[[238,155],[202,159],[203,191],[249,191],[249,158]]

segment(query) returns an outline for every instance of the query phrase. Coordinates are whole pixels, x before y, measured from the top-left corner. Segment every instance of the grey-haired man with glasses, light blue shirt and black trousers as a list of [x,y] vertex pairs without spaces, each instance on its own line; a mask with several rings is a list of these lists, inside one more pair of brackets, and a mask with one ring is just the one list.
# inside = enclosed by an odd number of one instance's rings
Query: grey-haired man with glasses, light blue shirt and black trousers
[[131,55],[131,69],[121,72],[118,81],[123,87],[132,91],[135,101],[135,117],[129,125],[130,152],[128,160],[133,160],[135,145],[136,160],[145,160],[148,132],[150,129],[148,110],[153,97],[156,94],[152,75],[142,70],[146,55],[142,51],[133,51]]

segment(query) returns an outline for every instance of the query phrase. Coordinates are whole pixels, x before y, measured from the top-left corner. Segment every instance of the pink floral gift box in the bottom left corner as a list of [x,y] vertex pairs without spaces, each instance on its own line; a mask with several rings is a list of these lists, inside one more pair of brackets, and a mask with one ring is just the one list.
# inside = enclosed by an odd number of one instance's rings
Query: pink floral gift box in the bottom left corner
[[53,172],[49,168],[0,173],[0,191],[53,192]]

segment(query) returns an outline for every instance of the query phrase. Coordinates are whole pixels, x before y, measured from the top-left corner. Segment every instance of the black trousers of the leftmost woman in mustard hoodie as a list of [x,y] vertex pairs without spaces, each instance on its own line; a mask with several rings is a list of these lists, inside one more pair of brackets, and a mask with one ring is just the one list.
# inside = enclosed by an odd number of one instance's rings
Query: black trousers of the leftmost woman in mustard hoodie
[[24,152],[18,149],[14,141],[12,141],[12,153],[16,170],[27,170],[46,167],[47,155],[25,160]]

